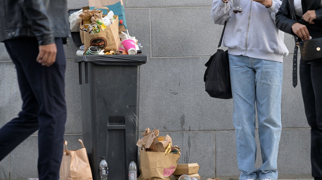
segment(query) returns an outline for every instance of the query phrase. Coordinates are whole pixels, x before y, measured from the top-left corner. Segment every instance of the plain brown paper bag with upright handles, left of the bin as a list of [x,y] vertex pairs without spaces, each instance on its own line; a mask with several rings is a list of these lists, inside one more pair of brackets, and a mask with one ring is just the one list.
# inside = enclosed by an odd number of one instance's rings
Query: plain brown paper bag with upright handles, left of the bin
[[68,150],[67,141],[64,141],[60,180],[93,180],[86,148],[81,139],[78,142],[81,143],[81,149]]

